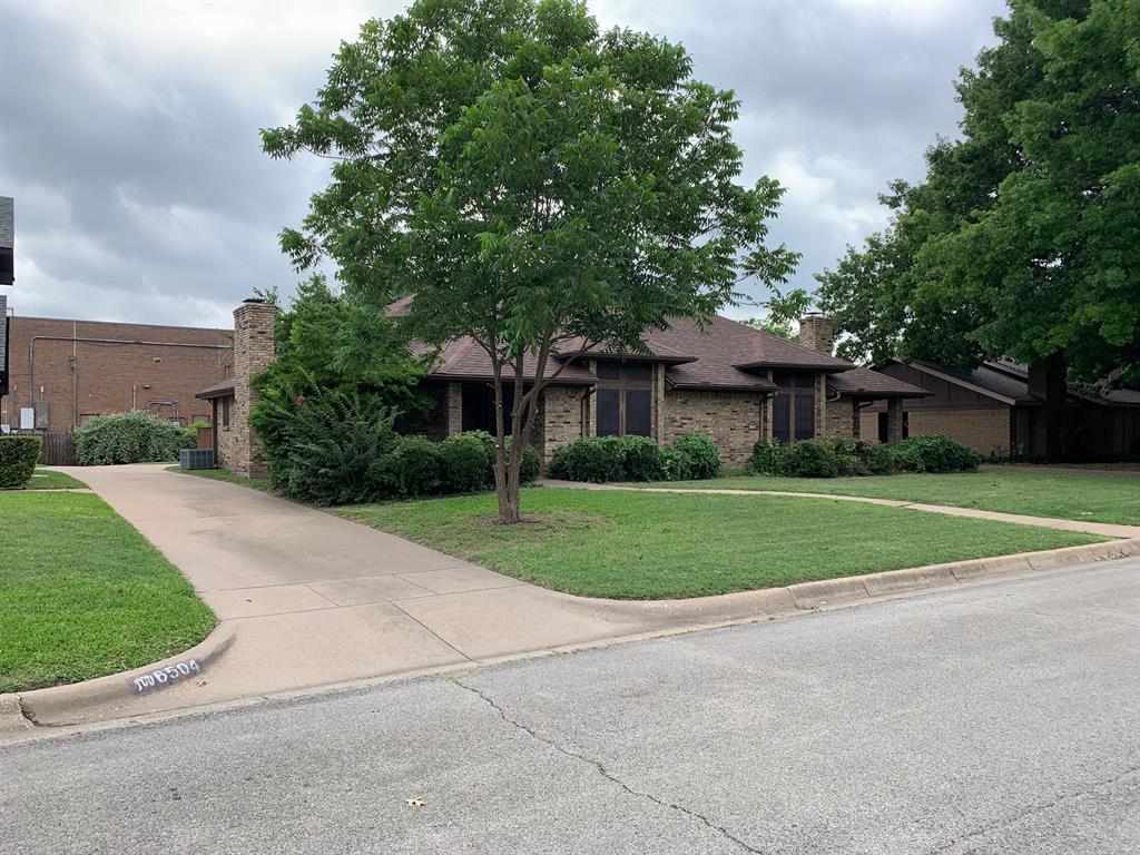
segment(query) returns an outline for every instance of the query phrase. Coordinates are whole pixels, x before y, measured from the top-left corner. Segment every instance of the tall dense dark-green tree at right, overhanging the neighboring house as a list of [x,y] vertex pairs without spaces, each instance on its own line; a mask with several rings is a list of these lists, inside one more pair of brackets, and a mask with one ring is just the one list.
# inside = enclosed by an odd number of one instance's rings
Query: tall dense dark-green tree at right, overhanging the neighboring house
[[816,278],[841,355],[1140,381],[1140,0],[1012,0],[958,82],[961,138],[881,197],[889,228]]

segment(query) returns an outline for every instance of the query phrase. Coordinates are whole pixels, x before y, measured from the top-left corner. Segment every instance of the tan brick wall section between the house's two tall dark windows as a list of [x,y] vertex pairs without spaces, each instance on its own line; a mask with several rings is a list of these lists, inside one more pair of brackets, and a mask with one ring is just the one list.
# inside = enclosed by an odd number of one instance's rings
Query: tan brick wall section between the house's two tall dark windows
[[739,466],[760,438],[760,394],[758,392],[667,391],[662,418],[663,445],[690,431],[712,439],[726,466]]

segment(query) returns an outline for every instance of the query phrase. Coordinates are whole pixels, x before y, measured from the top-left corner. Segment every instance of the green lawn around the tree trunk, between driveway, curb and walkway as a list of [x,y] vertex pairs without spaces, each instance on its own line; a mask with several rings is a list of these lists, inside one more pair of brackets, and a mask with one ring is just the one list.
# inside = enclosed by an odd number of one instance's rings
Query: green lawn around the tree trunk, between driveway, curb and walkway
[[536,521],[503,527],[494,496],[340,508],[348,519],[586,596],[657,600],[767,588],[1096,543],[1052,529],[836,499],[539,488]]

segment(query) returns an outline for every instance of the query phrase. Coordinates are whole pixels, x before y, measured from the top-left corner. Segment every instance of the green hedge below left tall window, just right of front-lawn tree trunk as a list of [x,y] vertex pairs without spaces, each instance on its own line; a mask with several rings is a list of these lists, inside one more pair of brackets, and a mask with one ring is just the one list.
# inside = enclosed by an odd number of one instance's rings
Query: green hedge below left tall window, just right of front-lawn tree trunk
[[681,481],[711,478],[720,454],[708,437],[686,433],[662,449],[649,437],[584,437],[557,449],[547,474],[565,481]]

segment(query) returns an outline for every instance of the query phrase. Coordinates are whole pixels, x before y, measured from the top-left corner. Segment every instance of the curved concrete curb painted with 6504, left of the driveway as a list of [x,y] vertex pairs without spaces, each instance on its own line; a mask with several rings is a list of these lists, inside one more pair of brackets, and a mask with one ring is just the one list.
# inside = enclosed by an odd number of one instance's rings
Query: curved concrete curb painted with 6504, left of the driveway
[[[168,668],[179,673],[177,666],[179,663],[185,666],[189,660],[197,663],[197,669],[192,671],[193,675],[204,673],[229,649],[236,634],[236,627],[231,622],[222,621],[213,628],[210,635],[189,650],[145,665],[141,668],[108,674],[105,677],[96,677],[65,686],[0,694],[0,733],[33,726],[64,726],[67,723],[68,712],[76,708],[85,710],[92,707],[106,707],[107,712],[111,714],[125,709],[131,701],[144,694],[138,691],[135,684],[137,678],[144,678],[155,673],[165,674]],[[188,668],[182,670],[189,671]],[[188,676],[176,677],[170,685],[177,685],[179,679],[188,678]],[[155,683],[155,691],[161,691],[160,685]],[[146,694],[150,693],[153,692]],[[14,722],[13,711],[19,716],[23,724]],[[51,724],[44,724],[44,722],[51,722]]]

